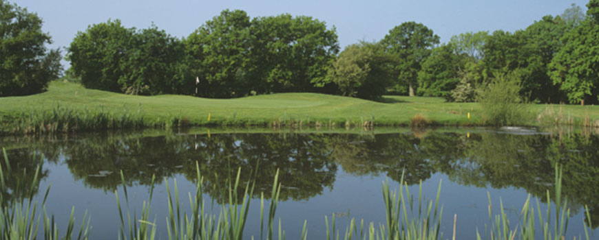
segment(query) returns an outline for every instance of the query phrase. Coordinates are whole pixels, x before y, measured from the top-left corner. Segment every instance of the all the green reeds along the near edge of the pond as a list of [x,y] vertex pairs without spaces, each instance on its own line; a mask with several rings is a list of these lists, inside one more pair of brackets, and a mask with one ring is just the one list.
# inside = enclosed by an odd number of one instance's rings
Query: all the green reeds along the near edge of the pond
[[[11,169],[6,152],[3,151],[5,167],[0,167],[0,190],[2,194],[8,193],[6,180],[11,180],[14,171]],[[39,171],[41,163],[34,173],[34,182],[39,182]],[[253,195],[255,181],[250,180],[245,186],[240,186],[241,169],[233,180],[227,180],[226,187],[217,189],[222,192],[222,195],[228,197],[228,202],[220,206],[217,214],[211,213],[209,208],[204,205],[202,199],[203,178],[200,175],[198,163],[196,163],[196,193],[187,194],[191,213],[182,211],[183,204],[180,201],[178,186],[176,180],[173,185],[165,179],[167,188],[168,210],[169,215],[166,217],[166,227],[169,239],[244,239],[244,228],[248,219],[250,208],[250,198]],[[255,174],[256,172],[254,172]],[[278,171],[274,176],[273,189],[271,192],[271,201],[269,204],[268,213],[265,212],[264,194],[261,194],[260,201],[260,239],[286,239],[285,231],[282,229],[281,219],[278,219],[278,226],[275,219],[277,210],[278,197],[281,191],[281,184],[278,181]],[[252,174],[250,174],[251,176]],[[21,175],[18,175],[21,176]],[[23,175],[24,176],[24,175]],[[156,239],[156,219],[151,217],[151,200],[154,193],[154,177],[152,178],[149,200],[144,202],[140,215],[134,210],[133,214],[129,210],[129,197],[127,186],[125,184],[125,176],[121,172],[121,180],[123,181],[123,192],[125,195],[125,205],[123,208],[118,193],[115,192],[117,200],[118,214],[120,217],[120,228],[117,232],[118,239]],[[255,178],[255,176],[253,176]],[[540,209],[540,203],[537,201],[536,208],[531,204],[529,196],[519,215],[518,222],[510,222],[503,210],[503,202],[500,199],[500,211],[498,215],[492,213],[493,205],[490,195],[489,197],[489,220],[490,227],[485,227],[485,232],[479,233],[476,231],[476,239],[492,239],[492,240],[513,240],[513,239],[543,239],[543,240],[562,240],[565,239],[569,224],[569,209],[567,209],[567,200],[561,195],[562,189],[562,170],[556,166],[556,180],[554,191],[554,202],[556,203],[556,213],[551,213],[551,198],[549,190],[547,191],[547,210],[545,215]],[[244,187],[243,195],[239,195],[238,189]],[[54,217],[49,217],[46,214],[45,203],[48,197],[49,189],[46,190],[41,203],[43,213],[38,213],[39,208],[36,202],[32,200],[34,196],[33,187],[30,188],[27,198],[13,200],[12,202],[3,204],[0,209],[0,239],[38,239],[37,232],[39,221],[43,222],[44,239],[59,239],[59,232]],[[172,190],[172,191],[171,191]],[[437,240],[445,239],[443,233],[440,232],[441,219],[443,215],[443,206],[439,206],[439,197],[441,195],[441,182],[437,189],[437,196],[434,200],[426,200],[422,194],[422,182],[419,185],[419,191],[416,194],[411,194],[408,185],[403,181],[403,173],[399,182],[399,190],[390,190],[388,181],[382,184],[382,193],[385,209],[385,223],[370,222],[365,225],[364,220],[357,224],[356,219],[352,218],[349,221],[343,232],[339,232],[335,223],[335,214],[332,216],[332,221],[328,221],[328,217],[324,217],[326,224],[326,239],[401,239],[401,240]],[[4,197],[4,195],[0,195]],[[238,200],[241,200],[239,202]],[[535,213],[536,211],[536,213]],[[126,214],[124,214],[126,213]],[[266,213],[266,215],[264,214]],[[591,226],[591,218],[588,207],[585,206],[585,213],[589,226]],[[76,232],[74,225],[73,211],[70,215],[70,221],[67,224],[64,239],[87,239],[90,229],[90,218],[87,214],[83,217],[81,226],[79,226],[78,235],[73,237]],[[538,221],[537,221],[538,220]],[[590,240],[589,230],[585,227],[585,237]],[[538,225],[537,225],[538,224]],[[304,221],[302,234],[300,239],[308,238],[308,224]],[[454,215],[452,240],[456,239],[456,217]],[[537,227],[538,226],[538,227]],[[540,233],[540,235],[539,235]],[[258,238],[258,236],[253,236]],[[474,238],[474,236],[473,236]],[[577,239],[583,239],[578,237]]]

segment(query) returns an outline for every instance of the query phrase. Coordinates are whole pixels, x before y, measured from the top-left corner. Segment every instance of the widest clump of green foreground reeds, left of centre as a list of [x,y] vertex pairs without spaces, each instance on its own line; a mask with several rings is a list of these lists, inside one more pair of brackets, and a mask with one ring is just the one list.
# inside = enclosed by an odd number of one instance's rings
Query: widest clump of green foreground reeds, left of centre
[[[196,163],[196,175],[198,179],[198,182],[196,183],[196,193],[193,196],[191,193],[188,193],[191,213],[181,210],[183,206],[180,202],[176,180],[174,180],[174,184],[172,185],[173,191],[171,191],[171,185],[169,185],[168,181],[165,179],[168,197],[167,207],[169,209],[169,216],[166,219],[169,239],[243,239],[244,227],[247,221],[251,200],[250,196],[253,195],[255,181],[249,181],[245,185],[243,196],[238,195],[241,177],[241,169],[238,169],[235,180],[233,180],[233,182],[227,180],[228,187],[224,189],[224,191],[227,191],[229,201],[227,204],[222,204],[217,217],[217,215],[208,213],[207,208],[204,205],[204,201],[202,199],[202,186],[204,178],[200,176],[199,169],[200,167],[198,166],[198,163]],[[261,197],[260,239],[275,239],[275,211],[277,208],[277,200],[281,191],[281,184],[278,182],[278,175],[279,172],[277,171],[275,174],[275,180],[273,182],[273,192],[271,195],[269,213],[266,216],[266,226],[264,226],[264,195],[262,194]],[[123,176],[122,173],[121,176]],[[152,182],[154,182],[154,180],[152,180]],[[127,189],[124,178],[123,188],[125,198],[127,198]],[[123,220],[123,211],[120,206],[120,202],[118,201],[117,195],[118,212],[121,219],[119,239],[155,239],[156,221],[149,221],[149,205],[154,187],[151,187],[151,189],[150,200],[147,205],[144,203],[140,219],[136,220],[136,215],[134,214],[134,219],[132,220],[130,212],[127,211],[127,224],[125,224],[125,221]],[[223,189],[219,190],[223,191]],[[242,197],[240,204],[237,203],[239,197]],[[140,224],[137,225],[136,222],[139,222]],[[151,226],[151,228],[149,226]],[[265,227],[266,229],[264,229]],[[129,229],[128,236],[126,234],[125,228]],[[304,224],[304,233],[302,236],[306,236],[305,230],[306,224]],[[284,235],[285,232],[282,230],[281,222],[279,221],[279,239],[284,239]],[[305,239],[305,237],[303,238]]]

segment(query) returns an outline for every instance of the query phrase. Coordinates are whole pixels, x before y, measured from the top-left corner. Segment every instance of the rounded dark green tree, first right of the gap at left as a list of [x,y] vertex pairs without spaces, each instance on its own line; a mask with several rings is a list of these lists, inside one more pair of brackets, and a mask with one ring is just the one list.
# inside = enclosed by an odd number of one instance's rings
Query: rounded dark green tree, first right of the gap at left
[[77,32],[71,42],[67,59],[81,84],[112,92],[122,92],[119,82],[127,82],[127,61],[134,48],[135,29],[126,28],[120,20],[108,20]]

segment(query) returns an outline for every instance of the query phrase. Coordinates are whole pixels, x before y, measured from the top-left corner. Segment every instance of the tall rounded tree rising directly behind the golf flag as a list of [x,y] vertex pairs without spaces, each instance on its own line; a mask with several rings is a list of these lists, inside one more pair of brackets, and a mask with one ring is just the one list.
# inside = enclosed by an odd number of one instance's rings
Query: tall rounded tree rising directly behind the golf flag
[[239,97],[248,84],[250,18],[242,10],[223,10],[184,40],[191,73],[200,78],[203,97]]

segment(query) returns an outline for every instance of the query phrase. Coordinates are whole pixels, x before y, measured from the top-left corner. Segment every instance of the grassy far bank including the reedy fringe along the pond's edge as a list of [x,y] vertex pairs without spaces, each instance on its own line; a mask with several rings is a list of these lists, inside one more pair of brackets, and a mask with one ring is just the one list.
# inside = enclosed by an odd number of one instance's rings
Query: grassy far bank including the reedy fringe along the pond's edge
[[[529,105],[526,125],[599,125],[597,106]],[[470,118],[468,114],[470,113]],[[414,117],[417,116],[418,117]],[[423,121],[423,119],[425,121]],[[414,123],[412,119],[418,121]],[[434,97],[380,102],[315,93],[238,99],[123,95],[52,82],[47,92],[0,98],[0,132],[70,132],[172,125],[337,126],[481,125],[481,106]]]

